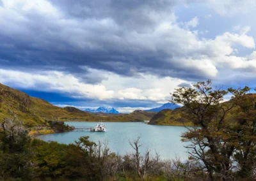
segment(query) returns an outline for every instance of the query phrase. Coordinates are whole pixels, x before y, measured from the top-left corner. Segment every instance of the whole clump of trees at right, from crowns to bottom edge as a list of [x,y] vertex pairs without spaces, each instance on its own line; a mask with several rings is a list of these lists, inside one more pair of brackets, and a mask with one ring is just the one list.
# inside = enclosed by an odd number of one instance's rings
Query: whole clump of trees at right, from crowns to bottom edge
[[[191,159],[200,163],[207,180],[256,179],[256,96],[247,94],[249,87],[213,90],[211,80],[194,87],[172,94],[195,125],[182,134],[191,143]],[[228,92],[232,99],[221,104]]]

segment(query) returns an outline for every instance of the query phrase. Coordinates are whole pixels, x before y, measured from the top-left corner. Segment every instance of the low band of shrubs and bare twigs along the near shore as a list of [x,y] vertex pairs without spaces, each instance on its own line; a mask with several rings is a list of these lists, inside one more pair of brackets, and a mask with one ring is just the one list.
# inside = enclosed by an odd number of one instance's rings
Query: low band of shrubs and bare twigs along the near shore
[[163,162],[150,150],[141,154],[140,138],[129,141],[134,153],[118,156],[107,143],[93,143],[88,136],[69,145],[32,139],[15,116],[0,128],[0,180],[171,180],[189,175],[179,160]]

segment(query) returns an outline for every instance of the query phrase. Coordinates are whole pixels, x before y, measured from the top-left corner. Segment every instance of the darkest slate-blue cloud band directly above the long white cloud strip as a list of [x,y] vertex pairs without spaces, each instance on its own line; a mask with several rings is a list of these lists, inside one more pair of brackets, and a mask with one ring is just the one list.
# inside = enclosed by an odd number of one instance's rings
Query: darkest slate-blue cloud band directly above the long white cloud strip
[[[15,44],[15,43],[14,43]],[[150,55],[151,54],[151,55]],[[195,69],[188,69],[176,62],[167,62],[161,53],[120,54],[116,52],[61,52],[59,50],[42,50],[17,43],[14,47],[0,50],[1,67],[15,69],[38,69],[67,71],[79,75],[88,83],[100,82],[102,77],[86,75],[87,66],[103,69],[124,76],[136,76],[137,73],[150,73],[158,76],[173,76],[185,79],[200,78]]]

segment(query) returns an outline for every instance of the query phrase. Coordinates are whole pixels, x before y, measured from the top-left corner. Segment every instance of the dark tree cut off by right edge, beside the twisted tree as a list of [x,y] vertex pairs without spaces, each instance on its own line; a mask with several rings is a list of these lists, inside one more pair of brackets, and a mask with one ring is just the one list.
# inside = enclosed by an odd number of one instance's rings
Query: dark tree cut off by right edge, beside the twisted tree
[[[256,95],[248,94],[249,87],[228,89],[235,105],[231,133],[236,138],[234,160],[239,166],[238,176],[253,180],[256,163]],[[254,175],[255,179],[255,175]]]

